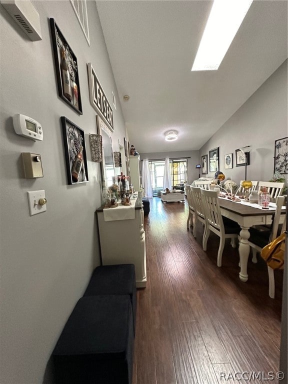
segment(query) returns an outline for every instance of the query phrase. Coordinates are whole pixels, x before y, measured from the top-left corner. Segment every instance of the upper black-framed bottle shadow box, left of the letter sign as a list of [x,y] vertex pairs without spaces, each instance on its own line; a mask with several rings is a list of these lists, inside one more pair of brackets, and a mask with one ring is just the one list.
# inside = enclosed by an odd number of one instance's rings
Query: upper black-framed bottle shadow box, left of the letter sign
[[[78,76],[78,70],[77,70],[78,69],[77,58],[74,52],[72,51],[70,45],[67,43],[65,37],[61,33],[59,27],[55,23],[55,20],[53,18],[50,18],[49,20],[50,20],[50,29],[51,29],[51,37],[52,37],[55,72],[56,72],[56,78],[57,78],[58,95],[77,113],[83,114],[79,76]],[[61,73],[61,67],[60,67],[62,47],[65,48],[66,61],[69,68],[69,74],[71,79],[71,94],[72,94],[71,100],[69,100],[69,98],[67,98],[64,95],[64,91],[63,91],[63,81],[62,81],[62,73]]]

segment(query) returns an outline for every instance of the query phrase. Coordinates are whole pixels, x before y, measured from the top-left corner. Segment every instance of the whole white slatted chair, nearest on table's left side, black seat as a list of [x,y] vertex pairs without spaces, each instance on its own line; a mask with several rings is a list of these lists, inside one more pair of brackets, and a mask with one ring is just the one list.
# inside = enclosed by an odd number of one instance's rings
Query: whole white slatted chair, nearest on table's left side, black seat
[[201,201],[206,220],[206,230],[203,236],[203,249],[206,250],[207,240],[212,231],[220,237],[220,243],[217,254],[217,266],[222,265],[222,253],[225,245],[225,239],[231,239],[231,245],[236,247],[236,239],[240,233],[240,226],[233,220],[221,215],[217,192],[214,190],[201,189]]

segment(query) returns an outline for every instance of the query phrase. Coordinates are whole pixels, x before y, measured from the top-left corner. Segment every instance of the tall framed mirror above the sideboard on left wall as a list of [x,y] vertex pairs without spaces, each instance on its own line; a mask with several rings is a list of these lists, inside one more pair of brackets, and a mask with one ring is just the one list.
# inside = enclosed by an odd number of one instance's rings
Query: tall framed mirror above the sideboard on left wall
[[99,115],[96,115],[96,122],[98,134],[102,136],[102,180],[108,187],[113,184],[115,176],[111,131]]

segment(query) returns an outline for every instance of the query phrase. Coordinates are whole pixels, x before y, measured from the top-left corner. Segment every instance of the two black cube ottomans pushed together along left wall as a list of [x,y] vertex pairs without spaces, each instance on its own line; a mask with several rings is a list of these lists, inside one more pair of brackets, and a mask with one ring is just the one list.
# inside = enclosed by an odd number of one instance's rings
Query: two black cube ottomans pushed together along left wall
[[131,384],[134,264],[97,266],[52,352],[55,384]]

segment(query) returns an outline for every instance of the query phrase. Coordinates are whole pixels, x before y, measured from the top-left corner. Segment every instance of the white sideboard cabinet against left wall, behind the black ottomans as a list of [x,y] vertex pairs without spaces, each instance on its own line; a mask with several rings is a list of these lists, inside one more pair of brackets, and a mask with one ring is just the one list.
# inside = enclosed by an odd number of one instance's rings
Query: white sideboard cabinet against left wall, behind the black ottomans
[[127,217],[127,207],[121,206],[120,202],[118,207],[109,208],[115,210],[115,219],[107,221],[103,207],[96,210],[101,260],[103,265],[134,264],[136,287],[145,287],[146,251],[142,193],[138,192],[137,199],[131,201],[135,211],[134,218],[124,218]]

